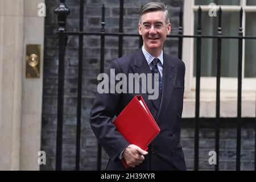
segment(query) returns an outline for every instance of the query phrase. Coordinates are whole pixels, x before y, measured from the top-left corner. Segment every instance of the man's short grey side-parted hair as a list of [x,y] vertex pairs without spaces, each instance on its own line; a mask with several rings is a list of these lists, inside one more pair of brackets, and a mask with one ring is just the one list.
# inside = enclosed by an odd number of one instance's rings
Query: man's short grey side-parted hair
[[143,14],[159,10],[164,12],[164,20],[166,24],[170,23],[170,15],[167,10],[167,5],[165,5],[163,2],[149,2],[144,5],[141,9],[141,13],[139,14],[139,23],[141,23],[141,16]]

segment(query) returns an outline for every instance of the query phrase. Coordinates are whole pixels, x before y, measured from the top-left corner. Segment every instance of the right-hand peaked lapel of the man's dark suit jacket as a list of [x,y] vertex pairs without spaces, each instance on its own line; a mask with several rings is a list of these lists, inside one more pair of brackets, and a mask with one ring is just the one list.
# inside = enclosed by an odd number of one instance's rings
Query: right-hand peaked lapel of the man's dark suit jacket
[[170,104],[172,93],[174,92],[174,85],[177,76],[177,65],[172,63],[171,57],[164,54],[164,67],[163,67],[163,93],[159,106],[158,116],[156,121],[160,123],[166,114],[168,105]]

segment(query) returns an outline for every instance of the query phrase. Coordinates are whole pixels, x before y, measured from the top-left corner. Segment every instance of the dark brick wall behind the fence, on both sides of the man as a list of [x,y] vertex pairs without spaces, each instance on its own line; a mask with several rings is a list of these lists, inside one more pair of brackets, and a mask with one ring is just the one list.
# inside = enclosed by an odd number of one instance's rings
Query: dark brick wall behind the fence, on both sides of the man
[[[118,32],[119,1],[118,0],[85,0],[84,30],[101,31],[101,6],[105,3],[106,32]],[[138,32],[139,9],[146,0],[125,0],[124,32]],[[182,0],[164,1],[169,7],[172,21],[172,33],[177,34],[179,23],[179,7]],[[67,19],[67,30],[79,29],[79,0],[67,0],[65,4],[71,10]],[[59,5],[57,0],[46,0],[47,16],[45,22],[44,39],[44,82],[43,82],[43,115],[42,115],[42,150],[46,151],[47,164],[41,166],[42,170],[55,169],[56,154],[56,123],[57,123],[57,65],[58,65],[58,40],[56,35],[57,17],[53,14],[55,7]],[[64,88],[64,131],[63,131],[63,169],[75,169],[75,144],[76,144],[76,106],[77,106],[77,67],[78,67],[77,36],[68,37],[68,45],[65,52],[65,88]],[[138,49],[138,38],[123,38],[123,55]],[[118,38],[106,37],[105,40],[105,68],[110,61],[118,57]],[[100,73],[100,38],[98,36],[84,36],[83,80],[82,80],[82,119],[81,119],[81,170],[96,169],[97,166],[97,140],[89,125],[90,107],[93,104],[97,88],[97,75]],[[164,52],[177,56],[177,39],[166,41]],[[182,144],[188,169],[193,169],[193,125],[191,120],[185,120],[181,132]],[[235,169],[236,167],[236,129],[223,128],[226,133],[221,139],[221,156],[223,162],[221,169]],[[246,137],[243,138],[245,155],[242,159],[243,169],[253,169],[253,138],[251,129],[243,130]],[[214,148],[214,127],[200,130],[202,141],[200,142],[200,168],[212,169],[208,164],[208,151]],[[223,144],[222,144],[223,143]],[[249,155],[250,154],[250,155]],[[108,156],[102,150],[102,169],[106,167]]]

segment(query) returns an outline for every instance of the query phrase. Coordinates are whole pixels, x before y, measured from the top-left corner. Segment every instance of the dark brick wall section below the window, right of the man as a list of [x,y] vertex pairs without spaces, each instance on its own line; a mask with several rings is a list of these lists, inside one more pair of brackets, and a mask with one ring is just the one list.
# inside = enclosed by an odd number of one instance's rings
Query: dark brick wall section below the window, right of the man
[[[237,129],[236,118],[221,118],[220,129],[220,170],[236,170]],[[241,170],[254,170],[254,118],[245,118],[241,132]],[[195,130],[194,119],[183,119],[181,144],[188,169],[194,165]],[[199,169],[214,170],[209,164],[209,151],[215,148],[215,123],[213,118],[202,118],[199,132]]]

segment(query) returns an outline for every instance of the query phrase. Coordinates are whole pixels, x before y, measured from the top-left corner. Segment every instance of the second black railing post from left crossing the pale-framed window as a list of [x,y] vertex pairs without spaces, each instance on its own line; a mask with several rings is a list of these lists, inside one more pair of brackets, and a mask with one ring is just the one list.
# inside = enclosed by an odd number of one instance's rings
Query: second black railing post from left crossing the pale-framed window
[[[221,7],[218,10],[218,36],[222,35],[221,30]],[[220,77],[221,77],[221,38],[217,39],[217,81],[216,81],[216,125],[215,125],[215,151],[216,151],[216,162],[215,171],[219,169],[219,155],[220,155]]]

